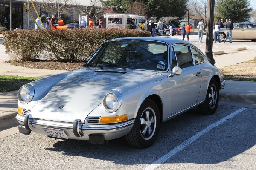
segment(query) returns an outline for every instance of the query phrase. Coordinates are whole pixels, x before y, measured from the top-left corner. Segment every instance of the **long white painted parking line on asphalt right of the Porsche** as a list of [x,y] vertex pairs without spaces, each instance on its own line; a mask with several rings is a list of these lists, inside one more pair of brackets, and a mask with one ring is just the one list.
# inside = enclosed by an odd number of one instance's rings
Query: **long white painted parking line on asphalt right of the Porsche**
[[175,147],[173,150],[171,150],[169,153],[166,153],[164,156],[162,156],[161,158],[159,158],[157,161],[155,161],[153,164],[149,165],[148,167],[145,168],[145,170],[154,170],[156,169],[158,166],[160,166],[164,161],[166,161],[167,159],[171,158],[172,156],[174,156],[176,153],[180,152],[180,150],[183,150],[185,147],[189,146],[189,144],[191,144],[193,141],[195,141],[196,139],[200,138],[202,135],[204,135],[205,133],[207,133],[209,130],[212,130],[213,128],[217,127],[218,125],[224,123],[225,121],[229,120],[230,118],[233,118],[235,115],[239,114],[240,112],[243,112],[244,110],[246,110],[246,108],[241,108],[239,110],[237,110],[236,112],[231,113],[230,115],[227,115],[226,117],[220,119],[219,121],[216,121],[215,123],[209,125],[208,127],[206,127],[205,129],[201,130],[200,132],[198,132],[197,134],[195,134],[194,136],[192,136],[191,138],[189,138],[188,140],[186,140],[185,142],[183,142],[182,144],[180,144],[179,146]]

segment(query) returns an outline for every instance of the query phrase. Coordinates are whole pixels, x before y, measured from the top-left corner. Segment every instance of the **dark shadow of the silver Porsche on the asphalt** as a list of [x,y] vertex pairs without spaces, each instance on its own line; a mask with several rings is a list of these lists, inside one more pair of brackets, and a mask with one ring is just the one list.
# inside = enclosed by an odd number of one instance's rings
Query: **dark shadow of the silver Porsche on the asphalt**
[[[224,106],[219,106],[214,115],[205,116],[198,114],[197,109],[192,109],[164,122],[160,127],[157,141],[146,149],[132,148],[126,144],[124,138],[110,140],[103,145],[90,144],[88,141],[58,140],[53,144],[53,148],[45,149],[67,156],[113,161],[116,164],[152,164],[202,129],[236,110],[237,107],[229,108],[227,111]],[[234,118],[210,130],[166,163],[217,164],[243,153],[253,147],[256,141],[253,140],[252,134],[244,133],[251,128],[250,125],[239,122]],[[136,161],[134,158],[137,158]]]

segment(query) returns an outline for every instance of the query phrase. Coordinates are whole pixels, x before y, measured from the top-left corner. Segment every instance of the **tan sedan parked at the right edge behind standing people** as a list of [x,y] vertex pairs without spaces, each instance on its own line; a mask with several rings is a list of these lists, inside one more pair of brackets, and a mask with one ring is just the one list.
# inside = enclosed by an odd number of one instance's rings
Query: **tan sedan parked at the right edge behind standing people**
[[[233,23],[232,40],[256,41],[256,23]],[[220,29],[220,39],[223,41],[227,36],[227,29]],[[214,34],[213,34],[214,39]]]

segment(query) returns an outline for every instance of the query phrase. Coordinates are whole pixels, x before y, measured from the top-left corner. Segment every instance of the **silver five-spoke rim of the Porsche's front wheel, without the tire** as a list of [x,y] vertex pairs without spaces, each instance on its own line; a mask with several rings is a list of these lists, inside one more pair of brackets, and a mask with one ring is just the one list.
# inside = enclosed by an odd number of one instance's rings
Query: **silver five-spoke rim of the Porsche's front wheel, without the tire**
[[156,114],[150,107],[143,111],[140,117],[140,134],[145,140],[149,140],[156,130]]

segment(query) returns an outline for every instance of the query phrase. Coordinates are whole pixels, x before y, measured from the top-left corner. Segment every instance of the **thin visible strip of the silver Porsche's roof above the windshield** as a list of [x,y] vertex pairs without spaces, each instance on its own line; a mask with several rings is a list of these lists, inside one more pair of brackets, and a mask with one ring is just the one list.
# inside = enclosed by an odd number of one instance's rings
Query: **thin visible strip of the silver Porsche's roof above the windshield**
[[[113,40],[152,40],[152,41],[161,41],[169,44],[186,43],[186,44],[192,45],[192,43],[188,41],[180,40],[177,38],[170,38],[170,37],[126,37],[126,38],[116,38]],[[112,41],[112,40],[109,40],[109,41]]]

